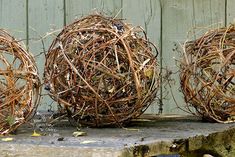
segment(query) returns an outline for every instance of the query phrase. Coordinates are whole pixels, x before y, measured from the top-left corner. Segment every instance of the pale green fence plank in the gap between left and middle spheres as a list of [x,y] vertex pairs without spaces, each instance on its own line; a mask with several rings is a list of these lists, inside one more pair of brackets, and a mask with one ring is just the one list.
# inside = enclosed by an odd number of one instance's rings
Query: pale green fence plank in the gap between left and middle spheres
[[[29,0],[29,48],[37,55],[44,51],[41,37],[54,30],[61,29],[64,22],[63,0]],[[44,38],[44,48],[47,51],[55,35]],[[39,69],[40,77],[43,76],[45,57],[44,55],[35,57]],[[46,91],[43,90],[43,94]],[[51,103],[49,97],[43,97],[39,110],[47,110]]]

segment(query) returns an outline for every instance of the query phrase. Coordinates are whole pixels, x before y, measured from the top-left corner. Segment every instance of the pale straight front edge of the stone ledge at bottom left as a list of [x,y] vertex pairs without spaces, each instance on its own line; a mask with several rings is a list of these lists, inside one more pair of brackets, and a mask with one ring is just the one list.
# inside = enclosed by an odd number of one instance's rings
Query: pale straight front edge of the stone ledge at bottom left
[[116,157],[121,150],[33,144],[0,144],[1,157]]

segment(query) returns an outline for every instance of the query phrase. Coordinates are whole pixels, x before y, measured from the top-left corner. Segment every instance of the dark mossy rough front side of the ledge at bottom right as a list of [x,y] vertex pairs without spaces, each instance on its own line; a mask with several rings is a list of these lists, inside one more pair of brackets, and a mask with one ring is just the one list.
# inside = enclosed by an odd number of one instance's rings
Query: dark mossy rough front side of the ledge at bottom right
[[158,157],[179,154],[180,157],[213,157],[235,156],[235,128],[223,132],[199,135],[173,142],[156,142],[147,145],[133,146],[123,153],[123,157]]

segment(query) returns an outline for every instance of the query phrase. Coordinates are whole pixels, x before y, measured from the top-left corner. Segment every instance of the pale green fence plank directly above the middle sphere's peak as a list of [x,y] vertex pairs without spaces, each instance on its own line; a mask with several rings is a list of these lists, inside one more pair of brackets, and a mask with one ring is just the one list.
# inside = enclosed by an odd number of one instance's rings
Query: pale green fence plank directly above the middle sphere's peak
[[[73,22],[75,19],[94,12],[115,16],[121,10],[121,7],[122,0],[67,0],[67,24]],[[121,17],[121,13],[119,14],[119,17]]]

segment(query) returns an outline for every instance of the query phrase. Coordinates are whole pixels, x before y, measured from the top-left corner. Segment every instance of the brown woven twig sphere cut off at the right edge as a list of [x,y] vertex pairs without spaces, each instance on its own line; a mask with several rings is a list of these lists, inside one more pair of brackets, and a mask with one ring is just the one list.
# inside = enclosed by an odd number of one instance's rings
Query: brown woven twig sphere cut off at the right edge
[[235,27],[215,29],[187,42],[181,64],[185,101],[204,119],[234,122]]

